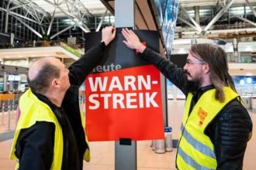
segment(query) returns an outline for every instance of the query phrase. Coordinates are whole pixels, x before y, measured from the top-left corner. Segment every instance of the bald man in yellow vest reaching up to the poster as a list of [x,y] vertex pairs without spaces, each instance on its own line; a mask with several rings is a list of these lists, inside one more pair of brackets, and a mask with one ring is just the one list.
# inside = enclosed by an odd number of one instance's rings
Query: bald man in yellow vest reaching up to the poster
[[90,160],[78,88],[115,36],[112,26],[102,29],[102,42],[68,69],[54,57],[30,66],[30,88],[19,100],[21,114],[10,155],[17,161],[16,168],[80,170],[83,159]]

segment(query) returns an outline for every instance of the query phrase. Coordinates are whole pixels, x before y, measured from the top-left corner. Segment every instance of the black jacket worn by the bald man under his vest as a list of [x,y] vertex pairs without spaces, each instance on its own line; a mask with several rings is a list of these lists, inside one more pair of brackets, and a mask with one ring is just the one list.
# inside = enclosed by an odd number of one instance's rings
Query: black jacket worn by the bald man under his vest
[[[47,97],[35,93],[39,100],[50,106],[61,124],[64,137],[61,169],[82,169],[83,155],[88,146],[81,124],[78,89],[86,76],[101,61],[104,49],[104,42],[100,42],[70,66],[71,87],[67,90],[61,107],[52,104]],[[54,156],[54,131],[54,123],[42,121],[20,131],[16,143],[19,169],[50,169]]]

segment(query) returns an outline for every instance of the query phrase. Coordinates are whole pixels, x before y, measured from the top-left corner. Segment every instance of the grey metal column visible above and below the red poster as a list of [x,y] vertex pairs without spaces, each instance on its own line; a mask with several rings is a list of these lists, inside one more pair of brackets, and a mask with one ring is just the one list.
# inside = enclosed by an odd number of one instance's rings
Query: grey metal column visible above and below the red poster
[[[116,28],[130,27],[134,29],[134,0],[115,1],[115,25]],[[137,142],[131,139],[119,139],[115,142],[115,169],[137,169]]]

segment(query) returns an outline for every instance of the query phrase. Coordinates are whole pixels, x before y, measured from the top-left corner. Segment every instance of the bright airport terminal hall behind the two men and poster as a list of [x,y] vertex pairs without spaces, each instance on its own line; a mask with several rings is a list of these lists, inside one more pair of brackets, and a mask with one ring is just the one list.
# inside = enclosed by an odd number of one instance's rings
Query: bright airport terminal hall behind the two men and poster
[[[229,73],[237,93],[256,123],[256,0],[133,0],[133,29],[157,32],[159,52],[183,67],[192,44],[215,43],[227,53]],[[31,63],[45,56],[70,66],[85,53],[86,34],[120,26],[130,18],[118,7],[126,0],[0,0],[0,169],[14,169],[9,159],[18,121],[19,97],[28,88]],[[118,5],[115,5],[118,4]],[[123,5],[120,5],[123,4]],[[122,23],[123,24],[123,23]],[[121,25],[126,26],[126,25]],[[185,95],[169,80],[161,87],[164,125],[178,139]],[[85,111],[85,84],[79,104]],[[244,170],[256,167],[255,128],[247,143]],[[91,162],[84,169],[113,170],[115,141],[91,141]],[[175,168],[176,148],[161,153],[153,140],[137,141],[137,169]]]

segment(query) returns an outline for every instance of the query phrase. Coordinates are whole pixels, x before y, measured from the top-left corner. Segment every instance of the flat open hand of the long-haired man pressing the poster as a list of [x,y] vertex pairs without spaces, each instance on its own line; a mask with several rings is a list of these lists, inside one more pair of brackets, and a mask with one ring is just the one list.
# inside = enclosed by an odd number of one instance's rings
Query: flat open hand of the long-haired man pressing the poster
[[122,29],[122,34],[126,40],[123,43],[126,44],[130,49],[137,49],[139,53],[143,53],[146,46],[144,46],[138,36],[130,29]]

